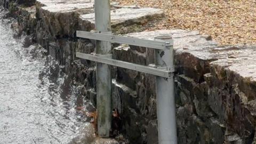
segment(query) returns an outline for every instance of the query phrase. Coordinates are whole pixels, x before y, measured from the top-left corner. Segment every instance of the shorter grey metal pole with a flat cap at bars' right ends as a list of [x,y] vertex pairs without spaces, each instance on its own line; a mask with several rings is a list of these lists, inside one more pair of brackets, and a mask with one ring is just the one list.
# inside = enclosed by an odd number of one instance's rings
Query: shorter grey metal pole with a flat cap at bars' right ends
[[[161,36],[156,39],[171,39]],[[174,69],[173,49],[155,50],[155,65]],[[159,144],[177,144],[175,118],[174,77],[156,77],[157,122]]]

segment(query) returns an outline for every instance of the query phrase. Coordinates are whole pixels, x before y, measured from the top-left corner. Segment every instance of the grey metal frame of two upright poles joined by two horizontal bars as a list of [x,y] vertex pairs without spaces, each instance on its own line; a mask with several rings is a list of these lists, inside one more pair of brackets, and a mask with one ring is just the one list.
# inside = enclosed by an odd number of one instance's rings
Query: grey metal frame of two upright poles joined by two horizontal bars
[[[95,39],[96,53],[76,53],[76,57],[97,62],[98,134],[109,137],[111,122],[111,71],[108,65],[132,69],[156,76],[158,143],[177,144],[174,98],[173,41],[161,36],[158,41],[111,35],[110,0],[95,0],[95,28],[98,33],[77,31],[77,37]],[[166,39],[168,39],[166,41]],[[114,60],[111,43],[155,49],[155,65],[142,66]]]

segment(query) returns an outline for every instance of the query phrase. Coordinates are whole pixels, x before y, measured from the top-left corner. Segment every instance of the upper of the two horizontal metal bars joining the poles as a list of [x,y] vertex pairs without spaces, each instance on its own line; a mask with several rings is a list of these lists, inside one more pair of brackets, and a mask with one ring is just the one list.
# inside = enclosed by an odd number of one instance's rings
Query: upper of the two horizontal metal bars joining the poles
[[159,49],[159,50],[170,49],[171,46],[173,45],[172,40],[170,42],[162,42],[162,41],[153,41],[153,40],[139,39],[139,38],[133,38],[133,37],[91,33],[88,31],[76,31],[76,36],[82,37],[82,38],[95,39],[98,41],[107,41],[111,43],[120,43],[120,44],[149,47],[149,48]]

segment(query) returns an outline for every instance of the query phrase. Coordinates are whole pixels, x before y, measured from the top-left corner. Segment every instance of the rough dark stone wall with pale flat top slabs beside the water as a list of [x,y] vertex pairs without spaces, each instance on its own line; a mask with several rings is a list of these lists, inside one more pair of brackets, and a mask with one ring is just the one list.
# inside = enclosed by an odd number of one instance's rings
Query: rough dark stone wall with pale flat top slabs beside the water
[[[7,5],[6,0],[1,2]],[[81,94],[95,105],[95,63],[75,57],[75,52],[94,52],[93,41],[75,35],[76,30],[93,29],[93,2],[74,1],[79,6],[69,1],[39,0],[33,6],[13,2],[8,5],[10,16],[18,19],[14,25],[17,33],[33,35],[33,41],[65,66],[70,84],[83,87]],[[141,25],[163,16],[159,9],[126,7],[112,5],[114,33],[119,28],[143,30]],[[179,143],[256,143],[255,47],[221,47],[197,31],[127,34],[145,39],[159,35],[169,35],[174,40]],[[113,47],[118,60],[141,65],[154,62],[151,49],[116,44]],[[121,113],[122,133],[130,143],[157,143],[155,77],[123,68],[112,70],[113,108]]]

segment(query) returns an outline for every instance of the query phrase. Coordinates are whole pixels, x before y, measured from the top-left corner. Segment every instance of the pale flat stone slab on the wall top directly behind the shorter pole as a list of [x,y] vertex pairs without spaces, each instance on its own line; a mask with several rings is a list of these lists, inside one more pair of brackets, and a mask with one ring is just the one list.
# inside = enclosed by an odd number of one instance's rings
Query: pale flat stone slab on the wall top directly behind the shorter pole
[[155,40],[156,36],[171,36],[174,41],[173,48],[177,53],[183,51],[191,52],[200,59],[215,58],[214,53],[207,52],[210,50],[209,47],[216,47],[218,45],[217,42],[207,40],[210,36],[199,35],[198,31],[187,31],[181,29],[143,31],[127,34],[125,36],[150,40]]

